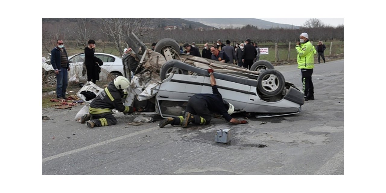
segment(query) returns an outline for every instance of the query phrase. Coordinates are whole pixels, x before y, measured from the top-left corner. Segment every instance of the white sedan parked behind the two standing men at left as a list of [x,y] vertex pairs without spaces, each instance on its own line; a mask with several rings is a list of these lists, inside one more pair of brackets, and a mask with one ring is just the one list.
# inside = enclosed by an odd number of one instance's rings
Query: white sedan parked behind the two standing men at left
[[[103,65],[100,66],[102,68],[102,71],[99,74],[100,80],[107,78],[107,74],[102,73],[104,70],[111,74],[112,79],[124,74],[122,59],[120,57],[105,53],[94,53],[94,56],[103,61]],[[80,81],[87,80],[87,74],[82,73],[83,63],[85,61],[85,53],[69,56],[68,60],[71,68],[68,72],[68,80],[70,80],[72,77],[77,78]],[[43,81],[45,81],[47,85],[55,86],[56,74],[54,73],[54,68],[52,68],[49,59],[47,61],[43,60],[42,68],[44,73]]]

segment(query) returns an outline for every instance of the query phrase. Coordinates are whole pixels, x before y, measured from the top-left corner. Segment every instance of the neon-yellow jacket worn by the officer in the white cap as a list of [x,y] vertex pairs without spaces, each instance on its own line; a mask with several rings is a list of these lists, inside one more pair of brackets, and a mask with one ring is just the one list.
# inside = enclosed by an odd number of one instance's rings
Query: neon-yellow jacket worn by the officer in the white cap
[[296,45],[296,52],[298,52],[298,68],[313,69],[313,55],[316,54],[315,47],[310,41]]

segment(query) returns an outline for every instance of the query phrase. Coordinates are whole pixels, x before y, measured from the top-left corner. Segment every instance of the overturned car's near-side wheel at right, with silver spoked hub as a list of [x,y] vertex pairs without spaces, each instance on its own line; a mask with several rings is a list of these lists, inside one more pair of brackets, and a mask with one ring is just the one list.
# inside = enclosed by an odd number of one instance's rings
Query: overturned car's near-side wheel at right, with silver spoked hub
[[283,74],[275,69],[266,69],[257,77],[257,89],[268,97],[278,95],[285,88]]

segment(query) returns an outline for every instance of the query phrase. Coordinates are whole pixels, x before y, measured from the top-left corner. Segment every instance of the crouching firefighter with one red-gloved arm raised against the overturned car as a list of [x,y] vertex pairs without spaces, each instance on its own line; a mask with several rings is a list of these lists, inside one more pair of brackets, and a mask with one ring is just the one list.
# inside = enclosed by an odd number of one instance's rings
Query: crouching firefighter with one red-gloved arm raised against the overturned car
[[165,127],[168,124],[182,125],[187,127],[189,123],[195,125],[206,125],[210,123],[212,116],[210,112],[222,115],[225,120],[232,124],[247,124],[245,120],[239,121],[230,117],[235,110],[234,106],[222,99],[222,95],[218,92],[216,80],[213,75],[213,69],[207,69],[210,77],[210,85],[212,85],[212,92],[195,94],[189,98],[186,106],[184,116],[168,117],[159,122],[159,127]]

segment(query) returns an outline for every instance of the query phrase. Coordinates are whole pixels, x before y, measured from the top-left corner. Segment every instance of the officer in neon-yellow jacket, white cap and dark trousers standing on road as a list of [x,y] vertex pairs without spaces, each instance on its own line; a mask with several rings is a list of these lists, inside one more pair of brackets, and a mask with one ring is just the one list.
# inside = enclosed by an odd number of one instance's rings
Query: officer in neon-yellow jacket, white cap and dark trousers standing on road
[[314,88],[312,83],[313,56],[316,54],[315,48],[308,40],[307,33],[300,34],[300,41],[295,46],[298,52],[298,69],[301,71],[301,82],[303,83],[304,100],[314,100]]

